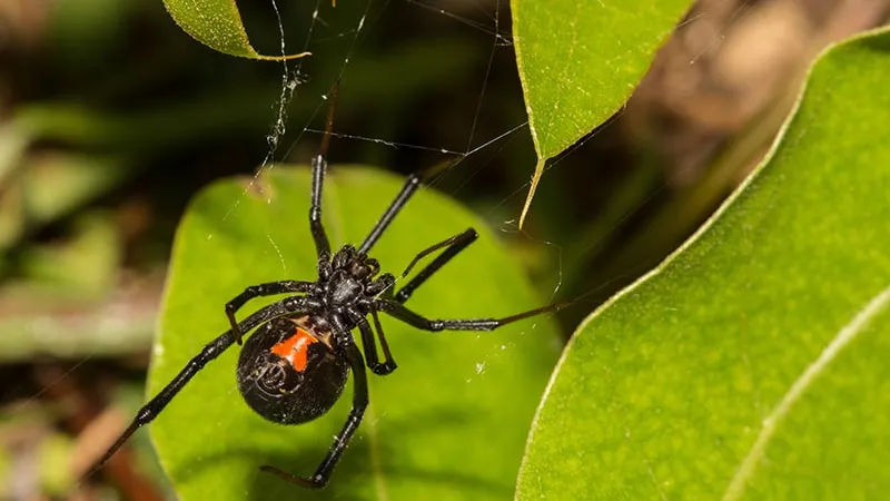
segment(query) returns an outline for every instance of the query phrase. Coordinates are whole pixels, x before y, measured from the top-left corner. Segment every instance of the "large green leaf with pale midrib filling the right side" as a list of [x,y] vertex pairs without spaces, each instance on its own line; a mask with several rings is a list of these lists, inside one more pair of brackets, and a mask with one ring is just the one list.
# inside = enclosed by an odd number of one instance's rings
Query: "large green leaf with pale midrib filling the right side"
[[880,499],[890,490],[890,31],[829,50],[781,143],[595,312],[520,499]]

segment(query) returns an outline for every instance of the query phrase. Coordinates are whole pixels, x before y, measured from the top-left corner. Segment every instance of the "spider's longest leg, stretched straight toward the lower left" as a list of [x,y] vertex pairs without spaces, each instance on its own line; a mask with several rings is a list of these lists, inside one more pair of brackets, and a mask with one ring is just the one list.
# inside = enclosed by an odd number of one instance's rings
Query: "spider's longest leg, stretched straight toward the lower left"
[[[254,313],[253,315],[248,316],[240,323],[239,325],[240,331],[241,332],[250,331],[251,328],[256,327],[257,325],[264,322],[268,322],[277,316],[281,316],[289,313],[290,307],[289,305],[286,305],[285,302],[287,302],[287,299],[268,305],[259,310],[258,312]],[[155,395],[154,399],[151,399],[147,404],[142,406],[142,409],[139,410],[139,412],[136,413],[136,418],[134,418],[130,425],[127,426],[127,430],[125,430],[123,433],[121,433],[120,438],[118,438],[118,440],[115,441],[113,445],[111,445],[111,448],[108,449],[108,451],[101,456],[101,459],[99,459],[99,461],[96,462],[96,465],[87,470],[88,473],[83,478],[86,479],[92,475],[99,469],[101,469],[105,465],[105,463],[107,463],[108,460],[111,459],[115,452],[117,452],[118,449],[120,449],[123,445],[123,443],[127,442],[127,440],[129,440],[130,436],[132,436],[134,433],[136,433],[137,430],[155,421],[155,418],[157,418],[158,414],[160,414],[164,407],[166,407],[167,404],[170,403],[170,401],[182,390],[182,387],[185,387],[186,384],[188,384],[188,382],[191,381],[192,377],[195,377],[195,374],[200,372],[200,370],[204,369],[205,365],[207,365],[209,362],[211,362],[214,358],[216,358],[222,352],[225,352],[229,346],[231,346],[235,343],[235,341],[236,341],[235,333],[233,331],[226,331],[225,333],[222,333],[222,335],[220,335],[216,340],[207,343],[207,345],[204,346],[200,353],[198,353],[198,355],[192,357],[186,364],[186,366],[182,367],[181,371],[179,371],[179,374],[177,374],[176,377],[174,377],[174,380],[170,381],[169,384],[167,384],[167,386],[164,386],[164,389],[157,395]]]

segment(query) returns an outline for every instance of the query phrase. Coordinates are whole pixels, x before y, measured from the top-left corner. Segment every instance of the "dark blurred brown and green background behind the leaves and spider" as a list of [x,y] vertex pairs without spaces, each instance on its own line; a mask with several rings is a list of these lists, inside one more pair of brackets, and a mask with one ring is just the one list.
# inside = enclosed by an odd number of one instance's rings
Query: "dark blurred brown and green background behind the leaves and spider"
[[[409,173],[453,158],[421,147],[474,150],[526,119],[506,0],[279,3],[288,49],[315,55],[288,65],[299,85],[275,161],[308,160],[338,76],[335,130],[359,138],[334,140],[335,165]],[[255,47],[278,53],[271,3],[239,7]],[[542,301],[557,285],[584,298],[561,317],[567,336],[758,164],[812,58],[889,12],[888,0],[702,0],[627,106],[550,164],[522,233],[527,128],[436,188],[503,230]],[[0,499],[169,498],[145,434],[70,492],[141,403],[187,202],[273,151],[284,68],[200,46],[160,0],[0,0]]]

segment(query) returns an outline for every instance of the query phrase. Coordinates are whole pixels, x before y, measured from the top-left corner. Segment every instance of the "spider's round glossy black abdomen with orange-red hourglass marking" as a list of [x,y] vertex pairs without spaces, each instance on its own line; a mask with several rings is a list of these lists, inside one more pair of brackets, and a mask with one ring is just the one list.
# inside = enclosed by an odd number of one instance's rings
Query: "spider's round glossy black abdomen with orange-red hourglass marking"
[[238,361],[238,390],[257,414],[299,424],[325,414],[339,399],[349,366],[299,320],[276,318],[247,338]]

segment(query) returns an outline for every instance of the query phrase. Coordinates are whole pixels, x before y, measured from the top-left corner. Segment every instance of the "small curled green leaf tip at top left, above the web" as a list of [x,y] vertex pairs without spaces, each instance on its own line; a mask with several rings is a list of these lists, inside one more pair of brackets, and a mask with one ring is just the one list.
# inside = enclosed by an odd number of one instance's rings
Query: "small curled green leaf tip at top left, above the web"
[[180,28],[195,40],[219,52],[273,61],[309,56],[309,52],[287,56],[257,52],[247,39],[235,0],[164,0],[164,4]]

